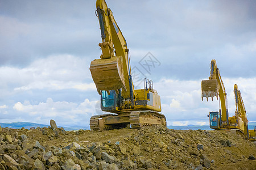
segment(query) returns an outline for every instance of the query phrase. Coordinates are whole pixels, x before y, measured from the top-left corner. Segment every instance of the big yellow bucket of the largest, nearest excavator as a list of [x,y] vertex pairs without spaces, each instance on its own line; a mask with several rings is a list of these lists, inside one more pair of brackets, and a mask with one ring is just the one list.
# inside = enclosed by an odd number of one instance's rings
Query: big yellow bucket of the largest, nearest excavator
[[122,57],[112,57],[108,59],[94,59],[90,63],[90,73],[96,84],[98,94],[101,90],[109,93],[125,87],[125,78],[122,69]]

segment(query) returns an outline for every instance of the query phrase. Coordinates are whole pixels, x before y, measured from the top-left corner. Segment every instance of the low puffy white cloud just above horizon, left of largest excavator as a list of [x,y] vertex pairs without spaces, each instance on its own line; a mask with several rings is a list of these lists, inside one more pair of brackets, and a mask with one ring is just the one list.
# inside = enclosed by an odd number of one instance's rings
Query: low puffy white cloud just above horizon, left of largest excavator
[[[85,99],[82,103],[77,104],[67,101],[53,101],[48,98],[46,102],[39,104],[30,104],[29,101],[17,102],[13,109],[16,114],[23,115],[23,118],[25,117],[26,121],[30,122],[37,120],[42,124],[49,124],[49,120],[53,119],[62,126],[73,124],[89,126],[90,117],[96,113],[97,102]],[[22,119],[22,117],[19,118]]]

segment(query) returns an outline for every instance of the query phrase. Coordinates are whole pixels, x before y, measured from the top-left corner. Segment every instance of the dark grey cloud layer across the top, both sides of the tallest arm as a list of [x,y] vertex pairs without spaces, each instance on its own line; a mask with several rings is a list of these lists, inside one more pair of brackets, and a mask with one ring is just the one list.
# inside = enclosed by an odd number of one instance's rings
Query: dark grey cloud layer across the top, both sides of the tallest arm
[[[179,65],[188,60],[199,66],[204,59],[223,58],[219,52],[225,45],[255,42],[253,1],[108,1],[108,6],[136,58],[150,51],[163,62]],[[25,65],[34,57],[63,53],[100,57],[95,9],[89,1],[2,2],[1,65]]]

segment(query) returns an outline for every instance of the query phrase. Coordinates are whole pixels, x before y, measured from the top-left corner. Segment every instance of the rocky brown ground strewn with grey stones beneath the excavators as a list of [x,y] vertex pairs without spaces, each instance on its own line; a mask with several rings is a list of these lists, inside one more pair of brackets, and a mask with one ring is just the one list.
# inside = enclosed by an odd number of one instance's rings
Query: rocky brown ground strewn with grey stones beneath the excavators
[[162,126],[93,132],[0,128],[0,169],[256,169],[256,146],[228,131]]

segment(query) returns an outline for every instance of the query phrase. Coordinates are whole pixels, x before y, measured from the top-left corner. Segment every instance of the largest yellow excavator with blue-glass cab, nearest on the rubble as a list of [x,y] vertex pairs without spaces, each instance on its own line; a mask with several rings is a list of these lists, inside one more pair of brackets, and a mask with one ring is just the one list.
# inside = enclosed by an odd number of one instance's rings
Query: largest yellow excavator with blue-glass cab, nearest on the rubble
[[134,90],[129,49],[112,11],[105,0],[97,0],[96,8],[102,54],[100,59],[94,59],[90,63],[90,72],[101,96],[101,110],[112,114],[92,116],[90,129],[166,126],[166,117],[159,113],[160,96],[153,88],[152,80],[145,78],[144,88]]

